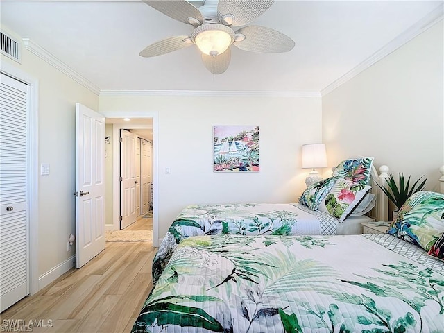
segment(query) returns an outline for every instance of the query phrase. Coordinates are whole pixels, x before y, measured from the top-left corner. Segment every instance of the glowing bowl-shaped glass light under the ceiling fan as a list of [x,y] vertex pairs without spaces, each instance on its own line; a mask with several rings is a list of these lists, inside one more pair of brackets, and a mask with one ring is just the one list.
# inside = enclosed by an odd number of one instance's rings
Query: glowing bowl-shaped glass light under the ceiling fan
[[234,41],[234,31],[223,24],[203,24],[194,29],[191,40],[203,53],[217,56]]

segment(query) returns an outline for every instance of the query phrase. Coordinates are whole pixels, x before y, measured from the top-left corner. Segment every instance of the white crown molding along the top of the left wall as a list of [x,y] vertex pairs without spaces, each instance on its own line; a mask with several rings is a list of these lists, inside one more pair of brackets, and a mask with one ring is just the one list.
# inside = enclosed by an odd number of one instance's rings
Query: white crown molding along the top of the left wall
[[99,87],[96,87],[96,85],[89,82],[89,80],[78,74],[76,71],[74,71],[74,69],[71,69],[71,67],[66,65],[64,62],[58,60],[58,58],[43,49],[42,46],[35,44],[29,38],[23,38],[23,44],[26,49],[31,53],[34,53],[35,56],[42,58],[44,61],[48,62],[49,65],[56,67],[56,69],[61,71],[63,74],[69,76],[77,83],[80,83],[80,85],[83,85],[83,87],[91,90],[92,92],[94,92],[94,94],[99,95]]

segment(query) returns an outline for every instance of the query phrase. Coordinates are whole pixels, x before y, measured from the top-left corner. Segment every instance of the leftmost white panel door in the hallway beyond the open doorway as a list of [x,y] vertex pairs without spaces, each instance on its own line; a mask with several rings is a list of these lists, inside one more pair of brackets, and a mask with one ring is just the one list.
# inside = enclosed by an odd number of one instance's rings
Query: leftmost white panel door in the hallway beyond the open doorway
[[136,143],[137,135],[120,130],[120,228],[137,219],[136,210]]

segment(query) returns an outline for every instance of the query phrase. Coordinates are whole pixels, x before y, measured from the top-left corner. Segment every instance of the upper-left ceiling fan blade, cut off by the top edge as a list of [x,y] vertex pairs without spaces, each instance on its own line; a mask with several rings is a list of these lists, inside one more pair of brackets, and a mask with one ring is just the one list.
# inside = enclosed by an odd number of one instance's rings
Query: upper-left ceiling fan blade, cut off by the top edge
[[[148,6],[159,10],[164,15],[176,19],[186,24],[192,24],[194,26],[200,26],[203,22],[202,14],[191,3],[185,0],[143,0]],[[194,18],[198,22],[190,22],[189,18]]]

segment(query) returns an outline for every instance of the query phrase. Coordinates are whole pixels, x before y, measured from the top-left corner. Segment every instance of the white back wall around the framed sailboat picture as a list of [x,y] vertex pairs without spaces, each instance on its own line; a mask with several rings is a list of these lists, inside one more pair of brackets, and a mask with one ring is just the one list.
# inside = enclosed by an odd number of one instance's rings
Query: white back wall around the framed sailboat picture
[[[99,111],[158,114],[159,237],[185,205],[295,202],[305,189],[300,147],[321,139],[318,98],[101,96]],[[213,172],[214,125],[259,126],[259,173]]]

